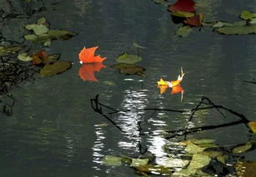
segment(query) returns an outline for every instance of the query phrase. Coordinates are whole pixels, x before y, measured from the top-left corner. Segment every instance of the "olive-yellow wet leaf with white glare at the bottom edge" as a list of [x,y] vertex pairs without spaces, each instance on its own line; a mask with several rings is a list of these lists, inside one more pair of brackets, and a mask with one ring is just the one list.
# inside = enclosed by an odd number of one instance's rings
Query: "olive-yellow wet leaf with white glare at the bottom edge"
[[171,171],[165,167],[165,166],[160,166],[160,165],[141,165],[141,166],[136,166],[136,170],[138,170],[139,174],[158,174],[158,175],[170,175]]

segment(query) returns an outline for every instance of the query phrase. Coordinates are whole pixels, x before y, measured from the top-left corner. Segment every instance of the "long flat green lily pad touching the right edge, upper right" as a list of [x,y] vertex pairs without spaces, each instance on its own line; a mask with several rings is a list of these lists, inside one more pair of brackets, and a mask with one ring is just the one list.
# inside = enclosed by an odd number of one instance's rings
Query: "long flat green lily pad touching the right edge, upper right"
[[227,35],[256,33],[256,26],[220,27],[217,32]]

